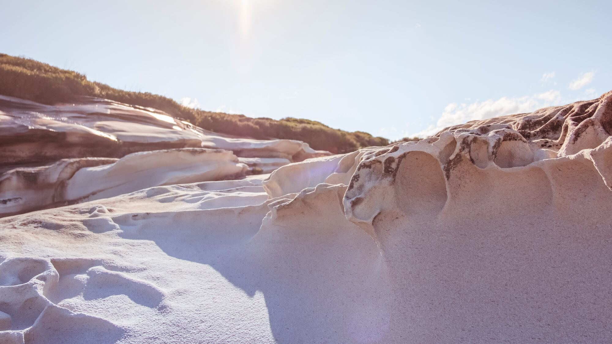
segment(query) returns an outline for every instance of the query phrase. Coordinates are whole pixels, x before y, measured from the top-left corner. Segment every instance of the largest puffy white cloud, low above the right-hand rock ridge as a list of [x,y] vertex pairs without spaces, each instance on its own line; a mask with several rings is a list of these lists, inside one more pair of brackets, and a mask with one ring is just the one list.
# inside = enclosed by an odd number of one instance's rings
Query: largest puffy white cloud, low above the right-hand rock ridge
[[550,91],[524,95],[523,97],[501,97],[498,100],[488,99],[476,100],[472,103],[450,103],[446,105],[442,115],[435,125],[418,133],[406,132],[404,136],[427,137],[435,135],[436,132],[450,127],[450,125],[462,124],[468,121],[476,121],[493,117],[505,116],[507,114],[528,113],[539,108],[550,107],[564,102],[561,92],[551,89]]

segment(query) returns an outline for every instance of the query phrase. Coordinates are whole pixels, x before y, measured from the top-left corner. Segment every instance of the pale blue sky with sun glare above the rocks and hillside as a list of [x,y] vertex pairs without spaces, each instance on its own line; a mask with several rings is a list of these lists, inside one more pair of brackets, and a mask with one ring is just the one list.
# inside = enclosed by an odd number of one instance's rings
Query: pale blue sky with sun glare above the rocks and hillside
[[[612,2],[6,1],[0,51],[387,138],[612,89]],[[10,14],[12,13],[12,14]]]

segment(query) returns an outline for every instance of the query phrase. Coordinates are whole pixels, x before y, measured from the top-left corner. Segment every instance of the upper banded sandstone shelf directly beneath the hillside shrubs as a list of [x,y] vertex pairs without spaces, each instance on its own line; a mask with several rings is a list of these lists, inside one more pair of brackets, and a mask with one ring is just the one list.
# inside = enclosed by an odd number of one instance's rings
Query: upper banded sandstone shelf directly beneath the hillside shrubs
[[231,138],[160,110],[91,97],[43,105],[0,95],[0,145],[0,165],[13,167],[174,148],[226,149],[240,157],[291,161],[330,154],[296,140]]

